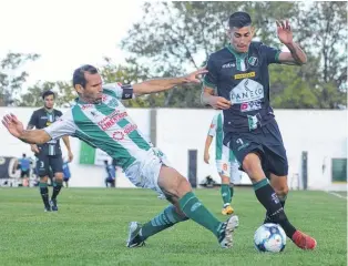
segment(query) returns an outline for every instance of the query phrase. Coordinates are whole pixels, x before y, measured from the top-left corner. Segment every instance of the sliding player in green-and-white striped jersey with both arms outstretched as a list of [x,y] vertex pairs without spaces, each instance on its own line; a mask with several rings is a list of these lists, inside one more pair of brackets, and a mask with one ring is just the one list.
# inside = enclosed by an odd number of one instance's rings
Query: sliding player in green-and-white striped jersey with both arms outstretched
[[139,187],[156,191],[171,203],[156,217],[144,225],[130,223],[127,247],[144,245],[144,241],[178,222],[188,218],[211,231],[222,247],[233,245],[233,232],[238,217],[219,222],[195,196],[191,184],[158,155],[145,140],[137,125],[129,116],[121,99],[162,92],[185,83],[199,83],[197,70],[183,78],[149,80],[134,85],[117,83],[102,85],[101,75],[92,65],[74,71],[73,86],[79,94],[76,104],[57,122],[42,130],[24,130],[14,114],[8,114],[2,123],[19,140],[41,144],[52,139],[72,135],[106,152],[121,166],[127,178]]

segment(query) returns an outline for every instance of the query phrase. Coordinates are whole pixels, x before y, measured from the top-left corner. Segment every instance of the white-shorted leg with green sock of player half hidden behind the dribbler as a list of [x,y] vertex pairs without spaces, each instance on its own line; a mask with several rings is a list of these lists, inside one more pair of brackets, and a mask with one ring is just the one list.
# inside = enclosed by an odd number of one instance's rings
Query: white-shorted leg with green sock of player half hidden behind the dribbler
[[229,163],[228,161],[216,161],[216,168],[222,180],[221,194],[223,198],[223,215],[233,214],[234,209],[231,207],[232,194],[229,187]]

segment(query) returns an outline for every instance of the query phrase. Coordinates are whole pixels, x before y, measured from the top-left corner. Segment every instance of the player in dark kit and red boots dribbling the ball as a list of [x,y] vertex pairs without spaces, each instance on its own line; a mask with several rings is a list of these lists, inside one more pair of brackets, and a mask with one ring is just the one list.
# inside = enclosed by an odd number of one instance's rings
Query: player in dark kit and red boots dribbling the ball
[[224,144],[253,182],[257,200],[267,209],[265,223],[282,225],[298,247],[314,249],[316,241],[297,231],[284,213],[288,162],[269,105],[268,65],[301,65],[307,62],[306,54],[293,41],[288,21],[277,21],[277,33],[290,52],[252,42],[254,29],[245,12],[233,13],[228,25],[231,43],[208,59],[202,102],[224,110]]

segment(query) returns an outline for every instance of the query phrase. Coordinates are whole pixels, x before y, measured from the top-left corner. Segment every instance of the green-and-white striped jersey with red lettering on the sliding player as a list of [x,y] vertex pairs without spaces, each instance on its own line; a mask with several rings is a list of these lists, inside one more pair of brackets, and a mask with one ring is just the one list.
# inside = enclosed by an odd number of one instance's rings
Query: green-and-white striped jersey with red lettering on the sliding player
[[133,89],[119,83],[103,85],[102,102],[76,104],[57,122],[43,129],[52,139],[72,135],[91,146],[99,147],[116,160],[116,165],[126,170],[149,153],[155,153],[153,145],[139,131],[129,116],[121,99],[132,99]]

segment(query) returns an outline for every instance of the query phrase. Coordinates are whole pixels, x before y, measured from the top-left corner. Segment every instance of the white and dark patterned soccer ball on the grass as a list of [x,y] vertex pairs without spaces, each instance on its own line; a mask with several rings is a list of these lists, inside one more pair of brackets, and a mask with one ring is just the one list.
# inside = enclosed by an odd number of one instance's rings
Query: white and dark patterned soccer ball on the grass
[[254,244],[258,252],[283,252],[286,245],[286,234],[277,224],[264,224],[254,235]]

